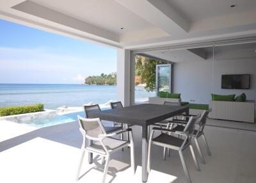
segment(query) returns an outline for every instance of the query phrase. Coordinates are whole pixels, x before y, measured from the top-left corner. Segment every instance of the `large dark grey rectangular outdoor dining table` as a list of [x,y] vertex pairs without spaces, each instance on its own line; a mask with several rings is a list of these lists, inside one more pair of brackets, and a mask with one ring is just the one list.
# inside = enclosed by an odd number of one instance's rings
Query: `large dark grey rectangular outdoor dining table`
[[[186,106],[167,106],[158,104],[140,104],[105,111],[91,111],[91,118],[100,118],[118,123],[128,123],[129,125],[139,125],[142,129],[142,182],[147,182],[147,155],[148,155],[148,126],[161,122],[180,113],[189,113]],[[89,162],[92,163],[92,154],[89,154]]]

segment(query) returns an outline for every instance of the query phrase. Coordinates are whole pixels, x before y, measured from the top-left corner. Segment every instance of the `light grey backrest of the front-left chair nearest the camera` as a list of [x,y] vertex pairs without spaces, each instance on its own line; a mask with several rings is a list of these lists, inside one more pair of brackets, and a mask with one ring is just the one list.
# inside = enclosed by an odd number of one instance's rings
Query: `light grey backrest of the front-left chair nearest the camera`
[[77,115],[77,119],[81,129],[86,132],[86,138],[98,138],[99,134],[106,134],[99,118],[82,118]]

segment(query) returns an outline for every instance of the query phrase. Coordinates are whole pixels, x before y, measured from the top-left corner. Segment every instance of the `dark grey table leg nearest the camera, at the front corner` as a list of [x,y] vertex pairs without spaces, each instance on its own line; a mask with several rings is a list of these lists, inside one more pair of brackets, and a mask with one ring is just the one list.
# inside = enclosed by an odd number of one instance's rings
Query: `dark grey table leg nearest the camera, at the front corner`
[[141,164],[142,164],[142,182],[147,182],[148,172],[147,172],[147,160],[148,160],[148,127],[142,127],[142,152],[141,152]]

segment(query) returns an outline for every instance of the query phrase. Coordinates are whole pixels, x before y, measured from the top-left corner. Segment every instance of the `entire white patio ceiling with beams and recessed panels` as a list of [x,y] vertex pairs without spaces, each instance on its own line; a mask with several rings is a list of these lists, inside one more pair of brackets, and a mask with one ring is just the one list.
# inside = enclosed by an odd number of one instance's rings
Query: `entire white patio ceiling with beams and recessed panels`
[[255,0],[0,0],[2,19],[131,50],[256,36],[255,17]]

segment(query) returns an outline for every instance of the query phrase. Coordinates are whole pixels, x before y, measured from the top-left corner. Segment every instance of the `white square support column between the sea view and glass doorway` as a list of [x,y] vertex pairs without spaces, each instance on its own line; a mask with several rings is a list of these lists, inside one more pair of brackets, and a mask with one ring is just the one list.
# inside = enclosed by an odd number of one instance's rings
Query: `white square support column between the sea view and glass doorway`
[[117,100],[124,106],[130,106],[130,79],[131,79],[131,51],[127,49],[117,50]]

